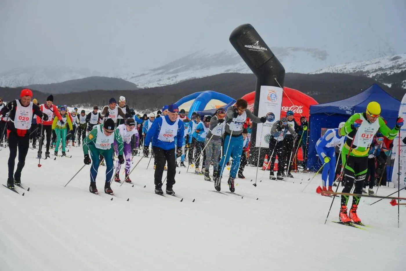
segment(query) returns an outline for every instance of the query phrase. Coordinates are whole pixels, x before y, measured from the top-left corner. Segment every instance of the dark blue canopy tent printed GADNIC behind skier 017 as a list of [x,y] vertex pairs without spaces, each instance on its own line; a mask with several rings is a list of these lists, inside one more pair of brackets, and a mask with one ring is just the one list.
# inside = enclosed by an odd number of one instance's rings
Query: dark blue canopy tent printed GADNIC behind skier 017
[[337,128],[340,122],[347,121],[351,115],[365,112],[365,108],[371,101],[377,101],[380,104],[382,118],[388,122],[390,128],[393,128],[400,108],[400,101],[393,98],[377,84],[373,84],[363,92],[348,99],[310,106],[307,168],[316,171],[322,166],[315,148],[317,140],[321,137],[322,128]]

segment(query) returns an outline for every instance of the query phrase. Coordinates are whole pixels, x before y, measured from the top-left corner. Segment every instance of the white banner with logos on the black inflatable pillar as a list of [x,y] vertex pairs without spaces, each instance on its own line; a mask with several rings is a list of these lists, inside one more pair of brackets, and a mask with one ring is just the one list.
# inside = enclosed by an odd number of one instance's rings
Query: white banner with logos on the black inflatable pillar
[[261,124],[257,125],[256,147],[259,147],[259,142],[263,148],[269,146],[272,125],[281,118],[282,94],[283,89],[277,86],[261,86],[259,90],[258,116],[266,116],[266,122],[262,124],[263,128]]

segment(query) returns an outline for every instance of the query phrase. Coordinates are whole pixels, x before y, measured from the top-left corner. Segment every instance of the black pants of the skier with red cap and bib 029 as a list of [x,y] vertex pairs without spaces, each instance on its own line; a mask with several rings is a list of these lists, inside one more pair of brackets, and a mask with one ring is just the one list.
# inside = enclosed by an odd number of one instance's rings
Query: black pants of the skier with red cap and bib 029
[[17,170],[15,171],[14,178],[20,179],[21,171],[25,165],[25,158],[28,153],[28,147],[30,146],[30,136],[29,131],[25,136],[18,136],[17,133],[11,131],[9,134],[9,179],[13,178],[15,157],[17,157],[17,148],[18,148],[18,163]]

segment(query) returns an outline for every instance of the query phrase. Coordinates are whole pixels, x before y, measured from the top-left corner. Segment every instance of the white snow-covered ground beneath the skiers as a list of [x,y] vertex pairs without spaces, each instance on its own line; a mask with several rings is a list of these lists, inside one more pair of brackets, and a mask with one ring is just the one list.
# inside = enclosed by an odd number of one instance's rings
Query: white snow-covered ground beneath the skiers
[[[256,168],[246,167],[246,179],[236,179],[241,198],[214,192],[214,183],[178,168],[180,202],[154,194],[147,158],[130,175],[134,187],[113,181],[116,196],[110,196],[89,193],[90,166],[64,187],[83,165],[81,148],[69,149],[72,158],[41,160],[41,168],[36,152],[29,150],[22,172],[30,191],[16,187],[18,195],[0,186],[2,271],[404,270],[406,208],[397,228],[397,207],[389,200],[370,206],[374,199],[362,198],[358,215],[370,228],[360,230],[331,222],[338,221],[336,198],[325,225],[332,198],[315,193],[320,176],[301,192],[314,173],[270,181],[259,171],[254,187]],[[2,148],[4,184],[8,156]],[[97,177],[101,191],[104,171]],[[379,194],[395,190],[381,187]],[[222,191],[229,191],[224,182]]]

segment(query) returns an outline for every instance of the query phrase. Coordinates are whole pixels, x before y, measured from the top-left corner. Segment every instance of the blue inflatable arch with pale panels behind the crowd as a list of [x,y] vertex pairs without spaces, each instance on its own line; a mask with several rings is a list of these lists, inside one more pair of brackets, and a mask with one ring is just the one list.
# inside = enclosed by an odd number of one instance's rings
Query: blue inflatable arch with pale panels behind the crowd
[[212,90],[195,92],[176,102],[179,110],[184,109],[189,112],[189,118],[193,112],[211,110],[215,109],[215,106],[224,106],[230,103],[235,103],[235,99]]

